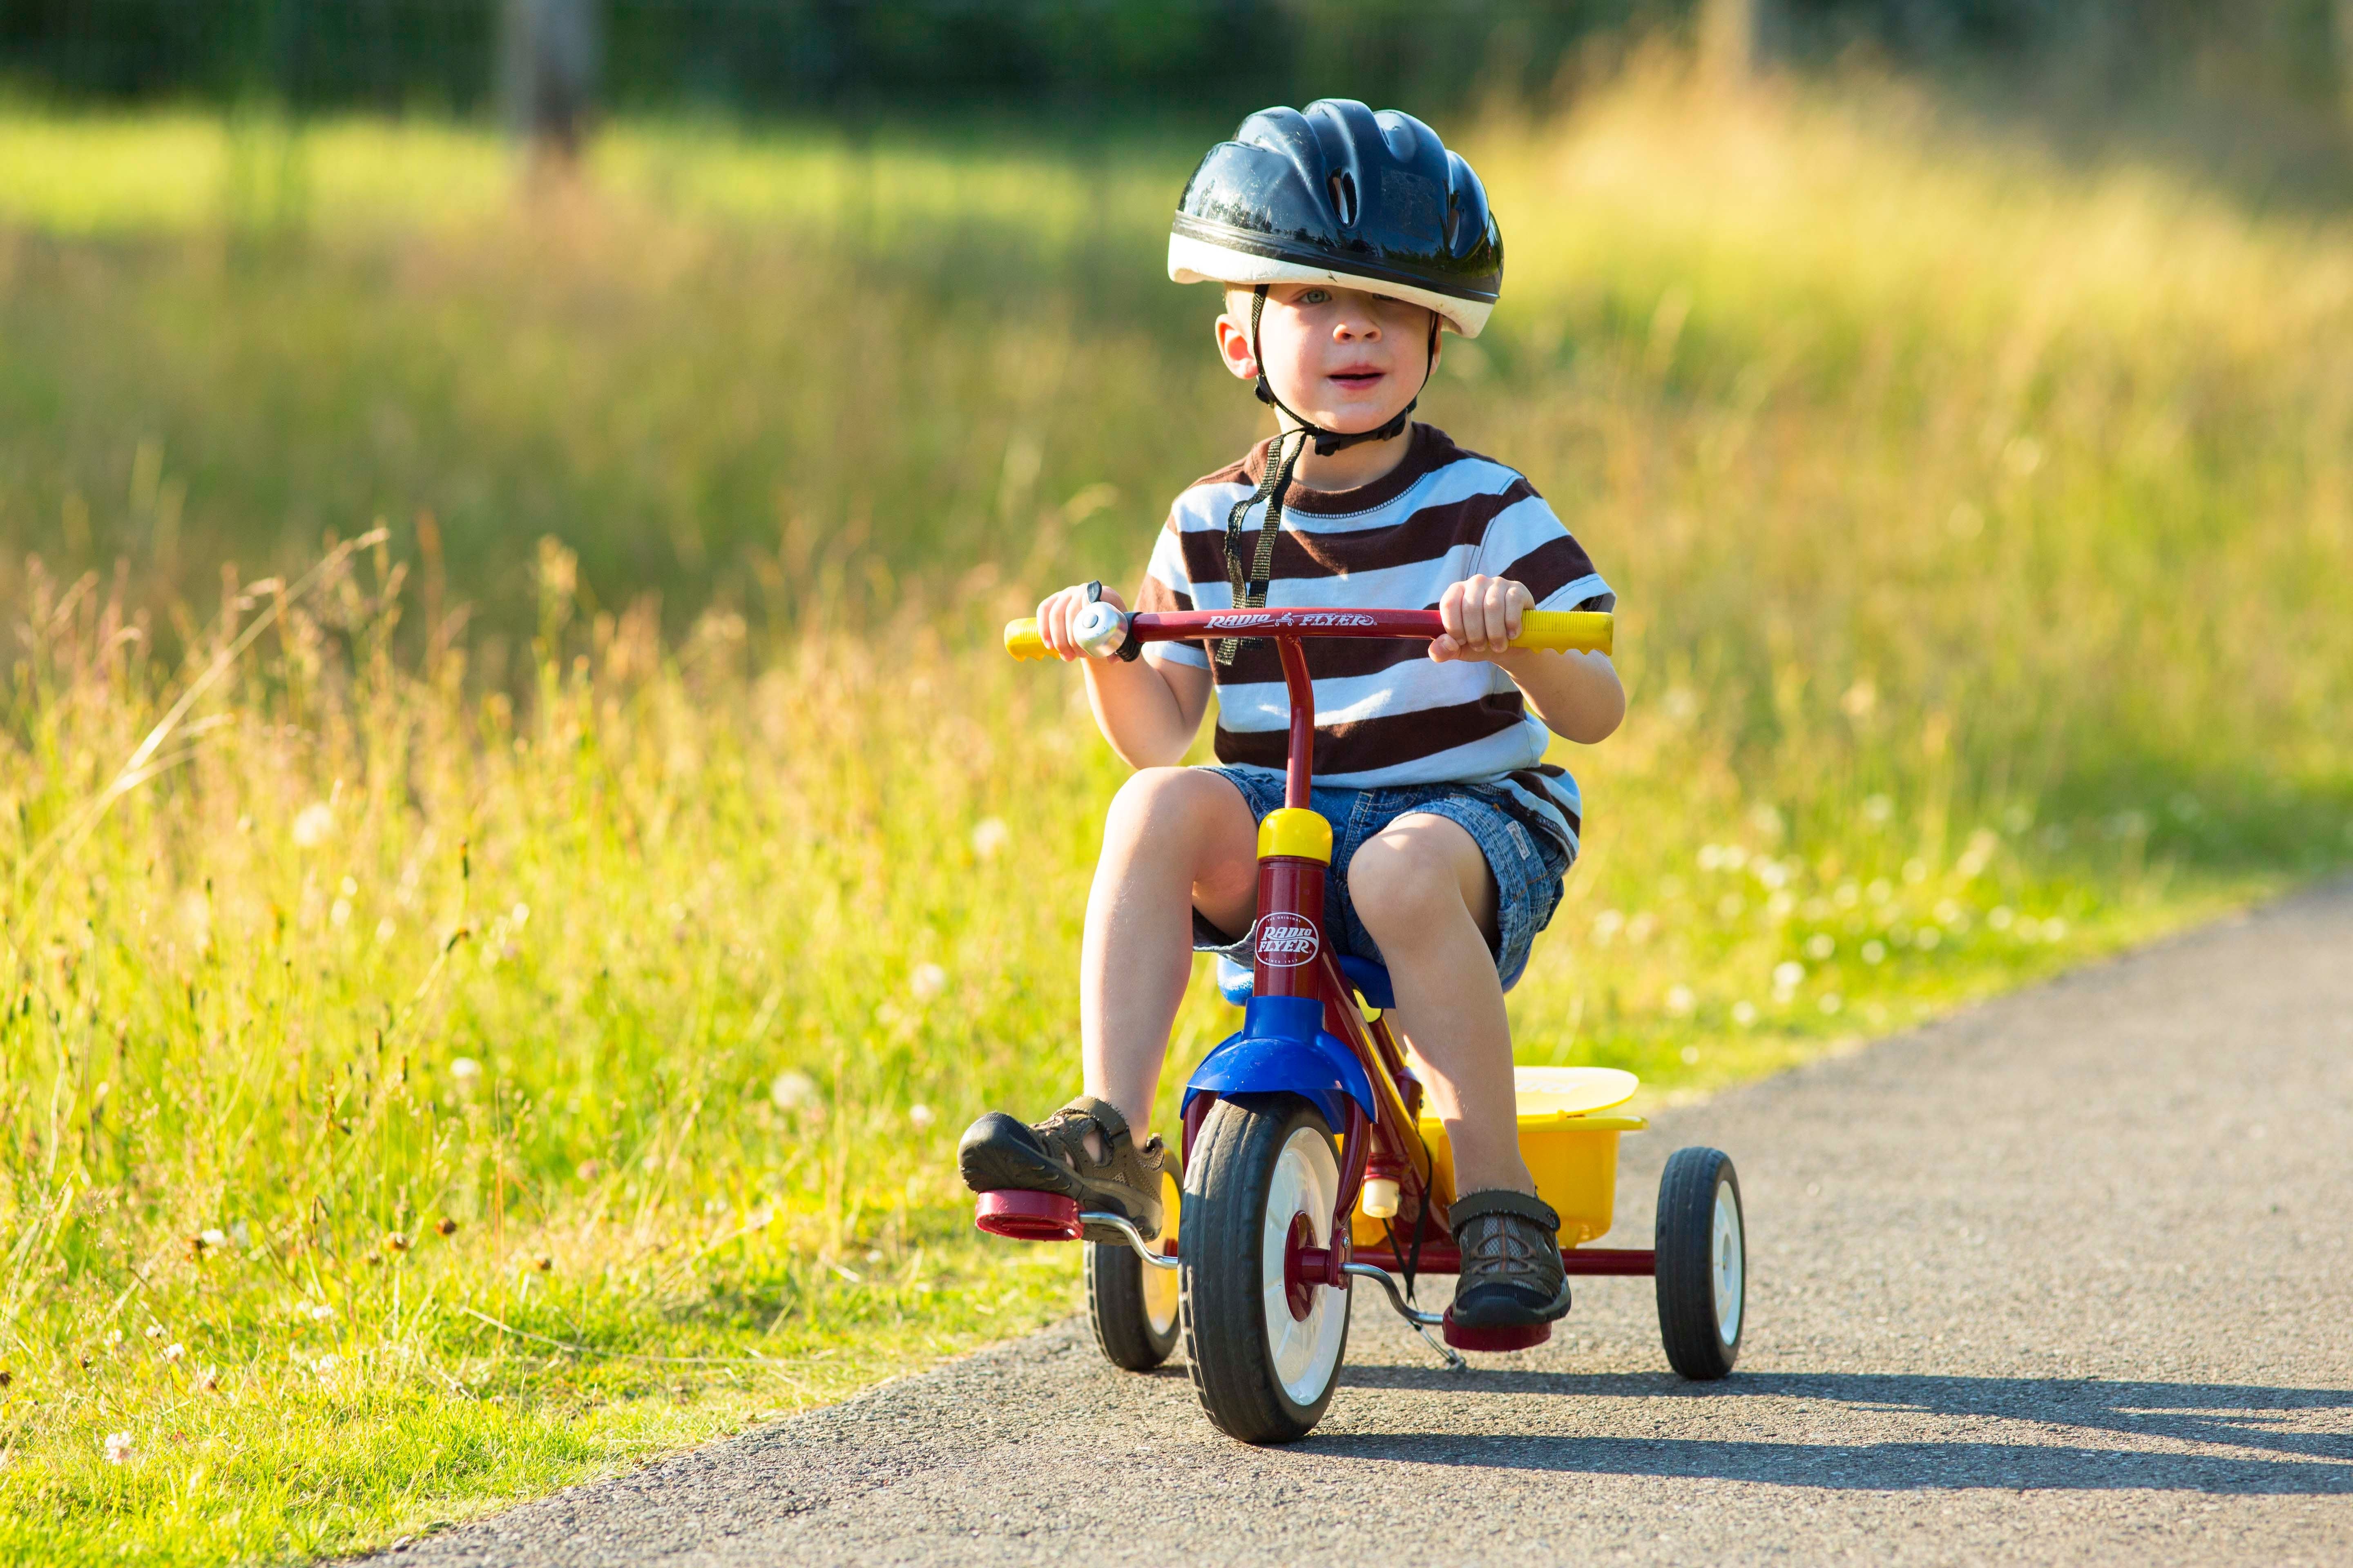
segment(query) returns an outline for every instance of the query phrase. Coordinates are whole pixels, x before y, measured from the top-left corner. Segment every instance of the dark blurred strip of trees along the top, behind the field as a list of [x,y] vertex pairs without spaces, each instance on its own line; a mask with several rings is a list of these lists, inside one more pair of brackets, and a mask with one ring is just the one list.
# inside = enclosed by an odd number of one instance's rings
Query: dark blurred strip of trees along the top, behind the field
[[2193,89],[2337,115],[2353,82],[2353,0],[0,0],[0,82],[489,113],[501,40],[513,59],[532,12],[591,19],[602,106],[732,115],[1544,99],[1565,66],[1661,33],[1791,63],[1868,52],[2101,106]]

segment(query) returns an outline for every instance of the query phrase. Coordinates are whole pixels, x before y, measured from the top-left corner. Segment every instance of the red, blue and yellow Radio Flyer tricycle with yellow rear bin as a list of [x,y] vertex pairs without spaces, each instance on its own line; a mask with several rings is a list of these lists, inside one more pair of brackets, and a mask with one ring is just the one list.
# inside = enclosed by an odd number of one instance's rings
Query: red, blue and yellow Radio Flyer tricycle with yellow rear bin
[[[1473,1328],[1414,1305],[1421,1274],[1459,1269],[1447,1206],[1454,1168],[1445,1126],[1421,1107],[1421,1079],[1388,1025],[1388,973],[1334,952],[1325,936],[1332,825],[1308,809],[1315,689],[1306,637],[1442,632],[1419,609],[1242,609],[1127,614],[1089,604],[1073,628],[1089,654],[1122,639],[1268,637],[1289,693],[1285,804],[1259,823],[1252,966],[1219,961],[1242,1027],[1186,1081],[1184,1140],[1167,1173],[1167,1225],[1144,1237],[1125,1215],[1082,1213],[1052,1192],[984,1192],[976,1225],[1019,1241],[1078,1241],[1087,1229],[1087,1314],[1115,1366],[1148,1371],[1176,1347],[1209,1420],[1247,1443],[1282,1443],[1322,1420],[1348,1345],[1351,1286],[1369,1281],[1452,1368],[1461,1352],[1515,1352],[1551,1338]],[[1609,651],[1595,611],[1527,611],[1513,646]],[[1005,628],[1014,658],[1052,658],[1035,621]],[[1572,1276],[1652,1276],[1668,1363],[1722,1378],[1741,1349],[1746,1227],[1741,1185],[1720,1150],[1675,1150],[1659,1178],[1654,1246],[1595,1248],[1617,1201],[1617,1140],[1645,1128],[1624,1112],[1638,1081],[1609,1067],[1518,1067],[1520,1154],[1560,1213]],[[1181,1178],[1179,1178],[1181,1173]],[[1431,1338],[1438,1328],[1440,1338]]]

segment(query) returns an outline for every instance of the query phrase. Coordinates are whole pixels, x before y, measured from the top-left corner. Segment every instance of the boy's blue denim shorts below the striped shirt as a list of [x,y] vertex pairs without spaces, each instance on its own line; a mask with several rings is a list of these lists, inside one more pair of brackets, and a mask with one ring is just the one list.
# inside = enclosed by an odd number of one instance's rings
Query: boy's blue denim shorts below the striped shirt
[[[1231,780],[1249,804],[1252,820],[1282,804],[1282,773],[1268,769],[1205,766]],[[1520,983],[1527,969],[1527,952],[1537,945],[1537,933],[1551,924],[1560,907],[1560,882],[1569,875],[1574,851],[1546,832],[1534,832],[1504,809],[1501,790],[1478,783],[1398,785],[1388,790],[1329,790],[1315,785],[1308,804],[1332,823],[1332,865],[1325,870],[1325,931],[1339,938],[1341,952],[1353,952],[1372,964],[1384,964],[1379,943],[1365,931],[1348,900],[1348,863],[1365,839],[1388,827],[1407,813],[1442,816],[1459,823],[1471,842],[1487,856],[1494,872],[1494,924],[1497,943],[1494,971],[1504,990]],[[1193,912],[1193,950],[1221,952],[1238,964],[1249,964],[1249,938],[1228,938],[1224,931]]]

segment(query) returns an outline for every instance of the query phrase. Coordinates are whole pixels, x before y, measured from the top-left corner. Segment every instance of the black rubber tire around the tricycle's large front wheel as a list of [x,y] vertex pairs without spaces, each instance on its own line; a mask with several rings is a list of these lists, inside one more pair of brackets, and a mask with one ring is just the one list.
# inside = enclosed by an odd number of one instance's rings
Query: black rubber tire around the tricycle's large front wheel
[[[1332,1128],[1301,1100],[1219,1100],[1202,1121],[1186,1173],[1184,1229],[1176,1237],[1186,1361],[1212,1425],[1245,1443],[1289,1443],[1313,1432],[1348,1359],[1348,1291],[1322,1288],[1327,1309],[1339,1312],[1339,1347],[1322,1387],[1308,1389],[1308,1399],[1282,1387],[1268,1347],[1259,1272],[1266,1204],[1282,1150],[1299,1128],[1313,1128],[1329,1147]],[[1329,1222],[1325,1213],[1320,1225]]]

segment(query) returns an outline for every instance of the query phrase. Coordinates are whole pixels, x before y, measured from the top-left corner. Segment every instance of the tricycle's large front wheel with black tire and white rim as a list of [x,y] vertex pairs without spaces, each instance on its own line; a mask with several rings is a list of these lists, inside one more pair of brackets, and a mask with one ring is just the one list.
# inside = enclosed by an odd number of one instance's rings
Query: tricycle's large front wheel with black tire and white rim
[[1193,1389],[1245,1443],[1306,1436],[1348,1349],[1348,1293],[1299,1279],[1299,1253],[1332,1246],[1332,1128],[1299,1100],[1219,1100],[1186,1178],[1176,1255]]

